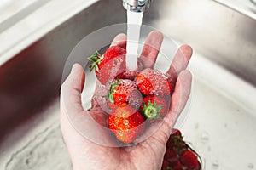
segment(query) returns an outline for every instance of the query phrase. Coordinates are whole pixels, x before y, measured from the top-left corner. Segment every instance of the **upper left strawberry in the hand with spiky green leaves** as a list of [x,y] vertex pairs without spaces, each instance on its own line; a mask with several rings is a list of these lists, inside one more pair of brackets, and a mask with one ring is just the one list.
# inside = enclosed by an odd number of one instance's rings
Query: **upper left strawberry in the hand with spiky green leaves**
[[119,46],[108,48],[104,55],[96,52],[88,58],[93,62],[90,71],[96,70],[96,77],[103,85],[116,77],[123,77],[126,69],[125,54],[126,50]]

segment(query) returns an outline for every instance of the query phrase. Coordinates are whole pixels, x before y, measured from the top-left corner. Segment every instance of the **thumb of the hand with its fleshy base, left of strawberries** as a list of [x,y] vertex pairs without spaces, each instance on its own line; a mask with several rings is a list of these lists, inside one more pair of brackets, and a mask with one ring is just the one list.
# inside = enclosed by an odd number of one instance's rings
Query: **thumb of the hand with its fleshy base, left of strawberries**
[[89,139],[96,144],[114,145],[113,139],[108,135],[108,128],[102,126],[102,120],[106,120],[105,116],[102,116],[102,112],[84,111],[82,107],[81,92],[84,88],[84,78],[83,67],[75,64],[70,75],[61,86],[62,132],[67,136],[72,136],[70,134],[72,130],[67,131],[67,127],[71,124],[73,130],[77,130],[76,133],[79,133],[85,139]]

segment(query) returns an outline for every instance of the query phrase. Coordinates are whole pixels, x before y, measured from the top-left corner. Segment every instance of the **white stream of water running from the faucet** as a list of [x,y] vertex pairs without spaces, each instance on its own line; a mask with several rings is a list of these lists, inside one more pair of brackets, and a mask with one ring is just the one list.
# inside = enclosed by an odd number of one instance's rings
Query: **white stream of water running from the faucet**
[[126,66],[131,71],[137,69],[138,42],[142,23],[143,12],[137,13],[127,10]]

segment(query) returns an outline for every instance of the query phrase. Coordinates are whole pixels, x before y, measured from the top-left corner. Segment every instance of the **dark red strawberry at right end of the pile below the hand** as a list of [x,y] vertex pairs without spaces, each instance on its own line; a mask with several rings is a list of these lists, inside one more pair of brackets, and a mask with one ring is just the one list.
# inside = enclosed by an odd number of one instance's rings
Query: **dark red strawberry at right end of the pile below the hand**
[[184,151],[182,156],[180,156],[179,160],[184,166],[187,167],[195,168],[199,166],[197,156],[191,150]]

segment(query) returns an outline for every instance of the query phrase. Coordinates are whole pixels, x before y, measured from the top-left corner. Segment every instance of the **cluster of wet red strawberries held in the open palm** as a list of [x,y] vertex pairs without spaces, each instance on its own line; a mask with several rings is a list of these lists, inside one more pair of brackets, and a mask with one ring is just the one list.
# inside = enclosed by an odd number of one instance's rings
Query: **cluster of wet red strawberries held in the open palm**
[[130,144],[143,133],[145,122],[159,122],[166,116],[173,85],[157,70],[138,66],[137,71],[129,71],[125,54],[124,48],[113,46],[89,60],[90,71],[95,69],[97,80],[108,87],[108,127],[116,139]]

